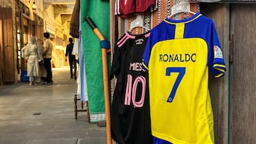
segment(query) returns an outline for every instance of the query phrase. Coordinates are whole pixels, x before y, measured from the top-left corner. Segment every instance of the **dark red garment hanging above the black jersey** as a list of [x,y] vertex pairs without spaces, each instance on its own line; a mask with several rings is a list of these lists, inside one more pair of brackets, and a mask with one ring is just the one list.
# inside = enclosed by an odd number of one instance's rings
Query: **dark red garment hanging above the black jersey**
[[156,11],[156,0],[116,0],[114,14],[122,18],[128,18],[134,13],[144,14]]

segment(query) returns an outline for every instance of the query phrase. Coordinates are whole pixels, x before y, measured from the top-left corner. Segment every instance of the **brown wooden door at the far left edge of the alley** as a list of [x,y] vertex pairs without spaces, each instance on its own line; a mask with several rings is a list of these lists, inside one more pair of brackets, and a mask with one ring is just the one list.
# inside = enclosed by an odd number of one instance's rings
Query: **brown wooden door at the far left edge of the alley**
[[0,9],[1,19],[1,81],[10,83],[15,81],[14,74],[14,43],[11,8]]

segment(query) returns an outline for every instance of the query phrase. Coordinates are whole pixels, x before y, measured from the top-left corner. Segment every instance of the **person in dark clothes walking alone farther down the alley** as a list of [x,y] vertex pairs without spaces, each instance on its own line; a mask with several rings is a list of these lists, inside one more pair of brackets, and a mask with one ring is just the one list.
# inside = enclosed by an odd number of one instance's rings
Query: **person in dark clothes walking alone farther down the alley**
[[[68,61],[70,64],[70,78],[73,79],[73,76],[74,76],[74,79],[77,79],[77,77],[76,77],[77,66],[76,66],[75,55],[72,55],[73,46],[74,46],[73,38],[69,38],[68,41],[70,43],[67,45],[67,48],[66,48],[65,62],[67,62],[67,57],[68,57]],[[73,69],[74,69],[74,73],[73,73]]]

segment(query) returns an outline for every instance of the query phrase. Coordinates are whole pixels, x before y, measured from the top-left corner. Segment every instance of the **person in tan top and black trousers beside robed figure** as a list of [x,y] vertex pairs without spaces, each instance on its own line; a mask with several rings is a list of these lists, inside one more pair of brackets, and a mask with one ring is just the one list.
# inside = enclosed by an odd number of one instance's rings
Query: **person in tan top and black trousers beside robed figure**
[[43,64],[44,67],[46,67],[46,84],[52,84],[53,83],[53,73],[51,70],[50,60],[52,57],[53,52],[53,43],[50,40],[50,33],[43,33],[43,36],[45,38],[43,42]]

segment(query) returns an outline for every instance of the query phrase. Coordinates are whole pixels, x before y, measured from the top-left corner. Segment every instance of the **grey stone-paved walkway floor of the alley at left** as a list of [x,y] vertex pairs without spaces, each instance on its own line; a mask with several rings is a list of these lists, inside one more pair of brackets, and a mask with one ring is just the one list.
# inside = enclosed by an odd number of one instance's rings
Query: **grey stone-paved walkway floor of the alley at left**
[[53,69],[52,85],[0,86],[0,144],[105,144],[106,128],[74,116],[77,86],[67,68]]

